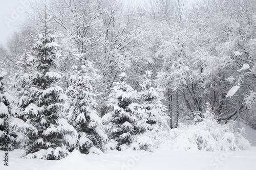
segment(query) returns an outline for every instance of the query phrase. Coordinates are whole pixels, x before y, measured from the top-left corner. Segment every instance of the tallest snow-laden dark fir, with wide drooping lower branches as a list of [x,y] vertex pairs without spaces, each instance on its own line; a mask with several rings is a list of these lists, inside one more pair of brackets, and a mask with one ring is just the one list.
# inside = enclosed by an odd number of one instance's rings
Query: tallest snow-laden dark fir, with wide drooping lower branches
[[35,74],[31,75],[19,99],[19,117],[25,123],[19,126],[26,141],[25,158],[41,158],[58,160],[68,155],[65,148],[65,134],[74,134],[75,129],[67,123],[62,111],[67,96],[62,88],[57,86],[60,75],[53,72],[57,67],[58,44],[55,36],[39,35],[34,44],[36,54]]

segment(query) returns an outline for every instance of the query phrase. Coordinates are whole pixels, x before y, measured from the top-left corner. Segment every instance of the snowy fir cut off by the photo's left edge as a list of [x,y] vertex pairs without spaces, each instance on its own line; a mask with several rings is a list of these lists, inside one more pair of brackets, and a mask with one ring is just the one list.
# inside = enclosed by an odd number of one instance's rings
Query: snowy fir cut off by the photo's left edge
[[3,79],[7,72],[0,70],[0,150],[12,151],[17,147],[16,137],[10,126],[10,116],[13,102],[12,96],[5,91]]

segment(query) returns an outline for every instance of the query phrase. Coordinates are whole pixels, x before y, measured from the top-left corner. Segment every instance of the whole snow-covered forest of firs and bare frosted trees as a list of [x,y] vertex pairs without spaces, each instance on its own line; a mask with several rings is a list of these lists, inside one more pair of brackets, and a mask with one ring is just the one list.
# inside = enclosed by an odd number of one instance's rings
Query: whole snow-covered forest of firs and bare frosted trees
[[251,148],[255,0],[40,0],[18,28],[0,44],[0,150]]

